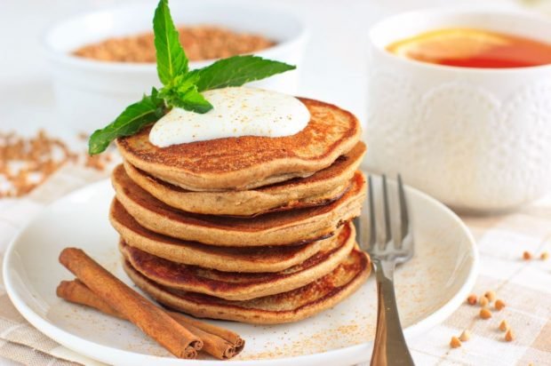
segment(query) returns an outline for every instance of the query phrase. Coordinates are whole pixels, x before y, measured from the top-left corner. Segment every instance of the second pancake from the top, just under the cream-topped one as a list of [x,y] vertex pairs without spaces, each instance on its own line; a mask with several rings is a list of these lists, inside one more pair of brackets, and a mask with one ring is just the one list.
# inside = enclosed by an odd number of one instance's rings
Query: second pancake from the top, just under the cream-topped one
[[358,142],[330,167],[302,179],[245,191],[194,192],[173,186],[124,162],[124,170],[140,187],[176,209],[206,215],[253,216],[331,203],[344,195],[362,162],[365,144]]

